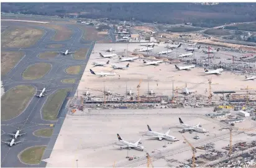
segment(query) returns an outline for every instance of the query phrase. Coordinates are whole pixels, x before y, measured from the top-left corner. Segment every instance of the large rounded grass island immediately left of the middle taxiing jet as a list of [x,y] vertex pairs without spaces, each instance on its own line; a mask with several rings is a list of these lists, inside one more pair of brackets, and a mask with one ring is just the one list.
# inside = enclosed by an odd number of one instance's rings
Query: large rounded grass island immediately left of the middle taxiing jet
[[7,91],[1,97],[1,120],[10,120],[21,114],[34,97],[33,86],[19,85]]

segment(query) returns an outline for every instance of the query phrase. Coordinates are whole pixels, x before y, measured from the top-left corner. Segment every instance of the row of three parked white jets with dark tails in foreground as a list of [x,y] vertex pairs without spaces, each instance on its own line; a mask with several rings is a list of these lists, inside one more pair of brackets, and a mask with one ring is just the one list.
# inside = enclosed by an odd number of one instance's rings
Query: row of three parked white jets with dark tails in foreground
[[[208,133],[209,131],[205,130],[204,128],[201,128],[201,124],[199,123],[198,125],[189,125],[189,124],[185,124],[183,123],[183,121],[181,120],[181,118],[179,118],[180,121],[180,125],[183,126],[183,131],[197,131],[199,133]],[[152,131],[152,129],[150,128],[149,125],[147,125],[147,128],[149,131],[147,131],[145,137],[147,138],[157,138],[159,141],[162,141],[163,139],[166,139],[168,141],[179,141],[179,139],[175,138],[175,136],[171,136],[169,135],[170,130],[168,130],[166,133],[159,133],[157,131]],[[141,146],[139,144],[141,144],[140,140],[141,138],[136,141],[135,143],[131,143],[129,141],[125,141],[121,138],[121,136],[119,134],[117,134],[117,138],[118,140],[124,144],[122,146],[120,146],[121,149],[139,149],[140,151],[144,151],[146,148],[144,146]]]

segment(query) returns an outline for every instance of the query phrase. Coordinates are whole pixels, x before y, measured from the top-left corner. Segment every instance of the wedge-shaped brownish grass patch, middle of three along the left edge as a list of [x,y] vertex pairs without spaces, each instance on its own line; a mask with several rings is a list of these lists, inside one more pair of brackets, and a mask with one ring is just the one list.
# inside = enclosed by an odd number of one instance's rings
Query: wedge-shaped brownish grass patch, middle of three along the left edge
[[1,76],[9,73],[12,68],[24,56],[23,52],[2,51],[1,52]]

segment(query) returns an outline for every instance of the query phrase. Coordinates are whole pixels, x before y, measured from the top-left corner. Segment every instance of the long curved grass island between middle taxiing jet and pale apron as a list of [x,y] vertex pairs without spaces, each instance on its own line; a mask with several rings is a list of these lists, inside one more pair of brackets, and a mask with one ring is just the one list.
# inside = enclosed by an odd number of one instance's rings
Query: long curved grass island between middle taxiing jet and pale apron
[[46,104],[43,105],[43,120],[57,120],[58,111],[68,91],[71,89],[58,89],[48,97]]

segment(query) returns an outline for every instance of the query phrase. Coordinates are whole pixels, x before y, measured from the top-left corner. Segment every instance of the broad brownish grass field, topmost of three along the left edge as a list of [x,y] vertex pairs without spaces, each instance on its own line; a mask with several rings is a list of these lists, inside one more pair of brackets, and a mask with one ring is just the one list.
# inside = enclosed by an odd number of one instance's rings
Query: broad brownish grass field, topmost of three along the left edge
[[9,27],[1,33],[1,46],[25,48],[34,45],[43,35],[43,30],[30,27]]

